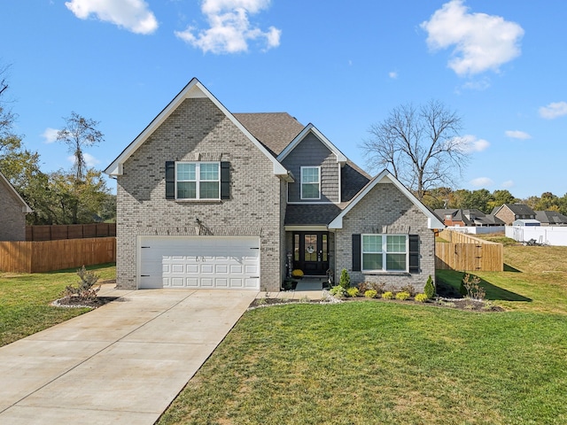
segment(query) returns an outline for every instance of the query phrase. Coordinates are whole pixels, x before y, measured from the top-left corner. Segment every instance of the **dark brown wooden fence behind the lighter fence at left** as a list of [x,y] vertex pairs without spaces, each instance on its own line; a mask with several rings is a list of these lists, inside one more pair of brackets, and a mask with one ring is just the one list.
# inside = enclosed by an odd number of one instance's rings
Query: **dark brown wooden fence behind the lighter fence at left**
[[56,241],[59,239],[108,236],[116,236],[116,223],[26,226],[27,241]]

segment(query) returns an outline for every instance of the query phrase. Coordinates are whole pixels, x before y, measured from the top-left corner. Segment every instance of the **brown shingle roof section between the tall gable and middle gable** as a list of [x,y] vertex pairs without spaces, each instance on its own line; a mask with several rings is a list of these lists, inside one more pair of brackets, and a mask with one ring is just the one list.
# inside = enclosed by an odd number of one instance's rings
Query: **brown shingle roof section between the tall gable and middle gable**
[[233,113],[233,115],[275,157],[304,128],[287,112]]

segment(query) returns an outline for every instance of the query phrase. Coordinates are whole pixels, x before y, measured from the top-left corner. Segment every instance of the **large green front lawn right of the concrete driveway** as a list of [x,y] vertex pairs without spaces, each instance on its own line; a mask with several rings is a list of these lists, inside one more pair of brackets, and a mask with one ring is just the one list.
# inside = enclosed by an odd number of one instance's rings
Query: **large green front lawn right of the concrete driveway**
[[505,313],[373,301],[247,312],[159,424],[567,423],[565,258],[506,246],[508,271],[478,273]]

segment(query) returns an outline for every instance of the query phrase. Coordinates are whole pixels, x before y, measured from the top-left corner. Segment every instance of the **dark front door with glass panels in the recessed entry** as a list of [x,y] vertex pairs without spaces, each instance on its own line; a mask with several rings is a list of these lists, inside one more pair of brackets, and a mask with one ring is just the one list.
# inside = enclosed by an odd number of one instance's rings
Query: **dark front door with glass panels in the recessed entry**
[[304,274],[326,274],[329,269],[329,233],[294,233],[293,268],[301,269]]

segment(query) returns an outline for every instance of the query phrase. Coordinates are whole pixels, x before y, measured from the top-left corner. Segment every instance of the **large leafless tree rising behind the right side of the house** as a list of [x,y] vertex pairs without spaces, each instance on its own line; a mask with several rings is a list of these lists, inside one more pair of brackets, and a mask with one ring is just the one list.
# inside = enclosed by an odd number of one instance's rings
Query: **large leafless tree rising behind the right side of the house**
[[461,177],[469,159],[461,129],[461,117],[437,100],[418,108],[403,104],[369,128],[361,148],[369,168],[390,169],[422,199],[428,189],[453,186]]

